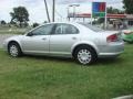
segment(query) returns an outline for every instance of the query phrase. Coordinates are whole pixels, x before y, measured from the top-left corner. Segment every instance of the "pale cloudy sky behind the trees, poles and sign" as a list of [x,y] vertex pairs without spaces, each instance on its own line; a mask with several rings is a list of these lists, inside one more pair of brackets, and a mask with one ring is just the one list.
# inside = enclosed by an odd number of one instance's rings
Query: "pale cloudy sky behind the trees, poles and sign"
[[[52,13],[52,0],[47,0],[50,16]],[[55,21],[63,21],[66,19],[68,7],[72,3],[80,4],[76,8],[79,13],[91,13],[91,2],[93,1],[103,1],[108,3],[108,7],[113,7],[116,9],[122,9],[122,0],[55,0]],[[47,13],[44,8],[43,0],[0,0],[0,20],[6,20],[10,22],[12,8],[14,7],[25,7],[30,14],[30,23],[43,23],[47,21]],[[69,11],[72,12],[73,9],[69,8]]]

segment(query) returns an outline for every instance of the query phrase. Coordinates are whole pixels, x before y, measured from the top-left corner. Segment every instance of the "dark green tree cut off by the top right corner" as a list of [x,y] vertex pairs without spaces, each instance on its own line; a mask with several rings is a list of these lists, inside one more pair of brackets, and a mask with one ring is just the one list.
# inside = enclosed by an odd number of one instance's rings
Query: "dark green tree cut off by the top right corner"
[[133,14],[133,0],[123,0],[124,9],[127,14]]

